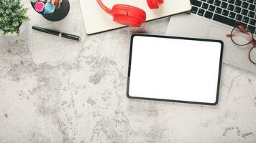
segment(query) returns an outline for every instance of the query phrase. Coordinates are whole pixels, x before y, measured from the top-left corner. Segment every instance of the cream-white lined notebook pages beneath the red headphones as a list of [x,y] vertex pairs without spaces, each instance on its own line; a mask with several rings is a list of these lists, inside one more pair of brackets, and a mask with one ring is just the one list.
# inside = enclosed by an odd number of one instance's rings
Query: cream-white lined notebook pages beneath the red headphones
[[[190,0],[165,0],[160,9],[152,10],[147,6],[146,0],[102,0],[109,9],[114,4],[129,4],[143,9],[147,13],[147,21],[158,19],[172,14],[191,10]],[[86,34],[95,34],[124,27],[112,21],[112,16],[101,9],[96,0],[80,0]]]

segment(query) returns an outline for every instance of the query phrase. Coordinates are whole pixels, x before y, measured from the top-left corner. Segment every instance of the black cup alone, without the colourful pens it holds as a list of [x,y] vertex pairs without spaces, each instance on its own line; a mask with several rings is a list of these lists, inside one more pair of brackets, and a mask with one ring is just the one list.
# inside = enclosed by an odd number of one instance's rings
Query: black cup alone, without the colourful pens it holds
[[[34,8],[34,4],[32,4],[32,6]],[[40,14],[42,14],[42,16],[49,21],[60,21],[68,15],[69,9],[69,1],[63,0],[62,4],[60,5],[60,8],[54,11],[52,14],[43,14],[42,12]]]

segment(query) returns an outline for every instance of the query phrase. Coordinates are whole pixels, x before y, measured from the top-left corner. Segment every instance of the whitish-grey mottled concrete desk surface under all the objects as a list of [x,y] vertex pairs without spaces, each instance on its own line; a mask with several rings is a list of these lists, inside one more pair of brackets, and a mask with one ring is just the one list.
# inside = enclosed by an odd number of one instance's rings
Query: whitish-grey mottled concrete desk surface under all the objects
[[29,6],[27,31],[0,37],[1,143],[256,142],[256,74],[224,64],[216,107],[127,99],[130,35],[164,34],[169,19],[87,36],[79,1],[70,6],[55,23]]

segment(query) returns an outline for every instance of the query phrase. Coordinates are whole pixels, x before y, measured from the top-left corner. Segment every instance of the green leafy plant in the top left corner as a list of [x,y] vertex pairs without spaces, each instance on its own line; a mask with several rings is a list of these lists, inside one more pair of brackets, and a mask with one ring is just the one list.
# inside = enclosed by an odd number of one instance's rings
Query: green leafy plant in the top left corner
[[19,26],[29,19],[27,10],[19,0],[0,0],[0,30],[19,34]]

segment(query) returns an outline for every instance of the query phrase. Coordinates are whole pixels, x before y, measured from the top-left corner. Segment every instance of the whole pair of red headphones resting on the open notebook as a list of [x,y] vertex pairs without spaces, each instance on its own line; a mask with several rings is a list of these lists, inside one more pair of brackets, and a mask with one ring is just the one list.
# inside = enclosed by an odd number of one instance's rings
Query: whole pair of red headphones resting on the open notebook
[[[164,0],[147,0],[147,5],[150,9],[158,9]],[[112,9],[106,7],[101,0],[97,0],[99,6],[106,11],[106,13],[113,16],[113,21],[127,25],[139,27],[146,21],[146,12],[138,7],[126,4],[115,4]]]

